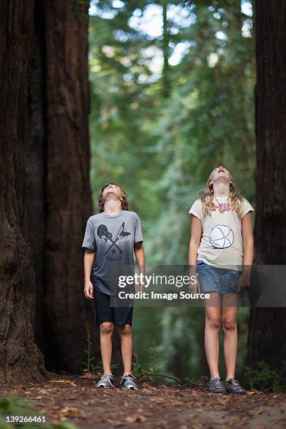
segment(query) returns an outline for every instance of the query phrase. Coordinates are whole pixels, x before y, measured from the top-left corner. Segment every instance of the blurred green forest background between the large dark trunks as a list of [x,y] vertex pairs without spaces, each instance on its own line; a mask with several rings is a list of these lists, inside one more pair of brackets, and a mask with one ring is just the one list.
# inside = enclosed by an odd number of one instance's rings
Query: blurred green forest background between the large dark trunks
[[[149,266],[187,264],[189,207],[219,163],[255,204],[252,7],[249,0],[90,2],[94,212],[101,186],[121,184],[142,221]],[[240,309],[238,376],[248,313]],[[207,375],[203,329],[203,308],[136,308],[139,365]]]

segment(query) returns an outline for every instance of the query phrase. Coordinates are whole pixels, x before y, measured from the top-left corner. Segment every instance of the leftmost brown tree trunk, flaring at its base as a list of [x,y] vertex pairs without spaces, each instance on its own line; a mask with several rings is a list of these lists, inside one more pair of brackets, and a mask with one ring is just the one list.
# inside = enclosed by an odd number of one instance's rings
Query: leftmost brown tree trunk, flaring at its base
[[32,0],[1,1],[0,16],[0,382],[42,381],[34,344],[34,270],[25,217]]

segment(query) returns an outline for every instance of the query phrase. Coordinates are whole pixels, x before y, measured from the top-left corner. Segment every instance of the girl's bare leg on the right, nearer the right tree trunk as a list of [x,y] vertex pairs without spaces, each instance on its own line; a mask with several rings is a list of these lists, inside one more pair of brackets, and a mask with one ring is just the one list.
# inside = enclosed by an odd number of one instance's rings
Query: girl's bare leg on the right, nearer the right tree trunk
[[224,361],[226,380],[235,378],[236,354],[238,350],[238,300],[237,294],[226,294],[222,298],[222,329],[224,330]]

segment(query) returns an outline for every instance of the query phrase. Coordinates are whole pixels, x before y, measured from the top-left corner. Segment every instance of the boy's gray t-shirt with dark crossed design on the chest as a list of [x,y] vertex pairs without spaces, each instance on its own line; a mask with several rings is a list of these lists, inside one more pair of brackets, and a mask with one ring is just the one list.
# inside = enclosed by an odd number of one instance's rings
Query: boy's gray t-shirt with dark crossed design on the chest
[[118,276],[134,275],[134,245],[142,241],[135,212],[122,210],[115,216],[102,212],[88,218],[82,247],[97,252],[93,268],[97,290],[117,294]]

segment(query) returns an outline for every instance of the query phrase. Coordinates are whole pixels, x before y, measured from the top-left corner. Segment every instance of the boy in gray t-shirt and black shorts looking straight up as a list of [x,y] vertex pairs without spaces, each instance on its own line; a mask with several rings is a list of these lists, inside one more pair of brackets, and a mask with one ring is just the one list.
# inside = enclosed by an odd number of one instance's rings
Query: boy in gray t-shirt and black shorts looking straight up
[[[110,306],[113,297],[118,293],[118,277],[128,271],[134,274],[133,251],[137,259],[139,273],[144,274],[143,237],[138,215],[129,210],[128,197],[121,188],[113,183],[102,187],[98,198],[100,213],[88,219],[82,247],[84,254],[84,293],[87,299],[95,299],[96,320],[100,325],[100,351],[102,355],[103,374],[96,387],[114,388],[114,376],[111,373],[111,336],[114,325],[118,328],[121,339],[121,355],[124,372],[121,377],[121,388],[138,390],[132,367],[132,305]],[[95,289],[90,281],[93,268]],[[115,279],[115,280],[114,280]],[[142,290],[144,285],[140,285]],[[112,299],[112,301],[111,301]],[[121,304],[122,305],[122,304]]]

